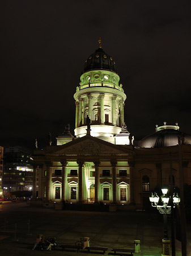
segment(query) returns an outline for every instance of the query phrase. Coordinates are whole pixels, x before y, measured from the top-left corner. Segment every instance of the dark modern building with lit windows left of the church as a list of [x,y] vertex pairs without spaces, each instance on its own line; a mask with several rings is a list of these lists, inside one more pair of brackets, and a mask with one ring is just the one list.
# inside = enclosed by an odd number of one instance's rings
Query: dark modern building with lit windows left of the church
[[32,190],[33,167],[31,151],[20,147],[8,147],[4,152],[3,190],[12,191]]

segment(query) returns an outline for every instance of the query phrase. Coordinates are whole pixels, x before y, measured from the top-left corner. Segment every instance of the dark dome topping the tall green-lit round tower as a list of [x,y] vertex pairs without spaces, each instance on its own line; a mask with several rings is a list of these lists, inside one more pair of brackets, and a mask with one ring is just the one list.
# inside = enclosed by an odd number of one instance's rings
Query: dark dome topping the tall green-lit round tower
[[101,47],[96,49],[85,61],[84,72],[91,69],[107,69],[117,73],[116,63],[113,58],[105,53]]

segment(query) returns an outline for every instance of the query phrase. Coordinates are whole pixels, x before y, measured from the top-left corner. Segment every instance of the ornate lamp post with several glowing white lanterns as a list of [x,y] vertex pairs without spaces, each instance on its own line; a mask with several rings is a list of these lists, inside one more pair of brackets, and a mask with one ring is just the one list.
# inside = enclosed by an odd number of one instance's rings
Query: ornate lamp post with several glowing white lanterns
[[[149,197],[152,207],[156,207],[156,209],[159,210],[159,213],[163,214],[164,219],[164,238],[162,240],[163,243],[163,253],[164,255],[171,255],[171,249],[170,249],[170,241],[168,238],[168,226],[167,226],[167,214],[171,214],[171,206],[168,205],[170,197],[168,194],[167,188],[162,188],[163,195],[159,198],[156,192],[152,193]],[[159,199],[160,203],[159,203]],[[179,197],[173,194],[173,207],[175,207],[176,204],[179,204]]]

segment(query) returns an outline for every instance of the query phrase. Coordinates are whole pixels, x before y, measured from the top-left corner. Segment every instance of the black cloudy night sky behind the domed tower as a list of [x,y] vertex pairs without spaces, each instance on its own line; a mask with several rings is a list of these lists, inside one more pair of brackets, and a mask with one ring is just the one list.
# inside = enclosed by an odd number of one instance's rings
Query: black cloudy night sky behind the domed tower
[[155,125],[191,134],[191,1],[9,1],[1,9],[1,146],[53,144],[70,123],[84,61],[116,62],[135,139]]

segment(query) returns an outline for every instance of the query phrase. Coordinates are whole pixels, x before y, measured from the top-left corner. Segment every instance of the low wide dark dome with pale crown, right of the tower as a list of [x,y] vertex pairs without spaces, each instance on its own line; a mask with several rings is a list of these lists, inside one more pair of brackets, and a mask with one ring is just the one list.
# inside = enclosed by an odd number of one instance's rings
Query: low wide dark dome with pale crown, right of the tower
[[176,146],[179,144],[179,137],[182,139],[182,144],[191,144],[191,135],[179,131],[179,126],[156,126],[156,133],[143,138],[138,146],[147,148]]

